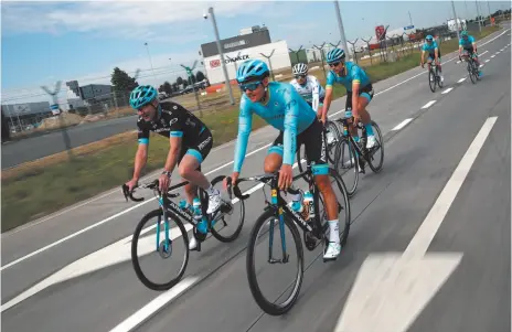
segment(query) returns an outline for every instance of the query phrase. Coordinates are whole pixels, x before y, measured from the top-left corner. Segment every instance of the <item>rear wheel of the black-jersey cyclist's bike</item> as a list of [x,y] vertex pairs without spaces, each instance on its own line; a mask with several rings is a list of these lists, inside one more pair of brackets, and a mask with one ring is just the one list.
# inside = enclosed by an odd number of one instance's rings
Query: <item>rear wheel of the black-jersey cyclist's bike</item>
[[[225,175],[212,180],[212,185],[221,185]],[[222,190],[222,188],[220,188]],[[222,191],[221,191],[222,192]],[[245,203],[237,200],[236,205],[230,200],[223,200],[221,208],[213,214],[211,232],[213,237],[223,243],[235,240],[242,232],[245,219]]]

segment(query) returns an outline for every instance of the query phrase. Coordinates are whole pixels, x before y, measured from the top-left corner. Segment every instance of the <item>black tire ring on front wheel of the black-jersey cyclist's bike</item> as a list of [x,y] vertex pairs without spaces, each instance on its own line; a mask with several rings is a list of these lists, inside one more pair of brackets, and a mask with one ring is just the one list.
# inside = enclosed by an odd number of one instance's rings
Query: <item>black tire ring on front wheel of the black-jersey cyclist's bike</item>
[[[168,214],[170,214],[170,213],[168,212]],[[160,210],[160,208],[153,210],[153,211],[149,212],[148,214],[146,214],[140,219],[137,227],[135,228],[134,237],[132,237],[132,240],[131,240],[131,264],[134,266],[134,270],[135,270],[137,277],[139,278],[140,282],[142,282],[147,288],[152,289],[152,290],[168,290],[168,289],[174,287],[181,280],[181,278],[183,277],[183,274],[186,270],[186,266],[189,264],[189,236],[188,236],[186,229],[183,226],[183,224],[181,223],[181,221],[178,219],[177,217],[173,217],[172,214],[170,214],[169,217],[172,218],[174,221],[174,223],[178,225],[178,228],[181,232],[181,236],[183,237],[184,245],[185,245],[185,255],[184,255],[185,259],[184,259],[183,264],[181,265],[181,269],[180,269],[180,272],[178,274],[178,276],[175,278],[171,279],[169,282],[157,283],[157,282],[153,282],[153,281],[149,280],[149,278],[146,277],[142,269],[140,268],[139,257],[137,256],[137,244],[139,242],[140,233],[142,232],[142,228],[146,225],[146,223],[149,222],[151,218],[158,217],[158,216],[161,216],[161,219],[163,221],[163,211]]]

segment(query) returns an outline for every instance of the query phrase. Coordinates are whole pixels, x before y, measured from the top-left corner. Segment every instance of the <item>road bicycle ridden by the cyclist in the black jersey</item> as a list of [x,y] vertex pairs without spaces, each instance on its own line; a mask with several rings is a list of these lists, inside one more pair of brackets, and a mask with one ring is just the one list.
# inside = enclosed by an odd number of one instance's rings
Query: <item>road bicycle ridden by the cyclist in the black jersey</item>
[[[212,181],[212,185],[215,186],[217,183],[222,183],[224,180],[224,175],[220,175]],[[234,212],[234,203],[233,201],[225,201],[222,200],[221,207],[213,214],[206,214],[207,204],[209,204],[209,196],[204,190],[199,188],[200,192],[200,207],[185,207],[185,201],[180,202],[180,205],[177,205],[171,199],[175,199],[180,196],[179,193],[172,193],[189,182],[184,181],[177,185],[171,186],[167,193],[162,193],[159,190],[159,181],[154,180],[150,183],[146,183],[140,185],[140,189],[148,189],[152,190],[157,201],[159,203],[159,208],[153,210],[146,214],[141,221],[138,223],[132,240],[131,240],[131,263],[134,265],[134,269],[137,274],[139,280],[149,289],[152,290],[168,290],[177,285],[186,269],[189,263],[189,235],[186,228],[193,228],[193,236],[198,240],[198,251],[201,251],[201,243],[206,239],[209,233],[212,233],[213,237],[217,240],[223,243],[230,243],[235,240],[244,225],[245,218],[245,205],[244,202],[237,202],[241,204],[241,215],[239,215],[239,223],[228,223],[226,222],[226,217],[232,215]],[[143,197],[134,197],[134,191],[129,192],[129,189],[126,184],[122,184],[122,193],[125,199],[128,201],[130,199],[134,202],[141,202]],[[235,216],[236,218],[236,216]],[[156,219],[156,221],[154,221]],[[177,227],[171,228],[171,222],[173,222]],[[189,223],[189,225],[184,225],[184,222]],[[207,223],[207,232],[202,233],[198,231],[198,225],[200,222]],[[217,228],[216,226],[221,226]],[[224,234],[225,228],[227,226],[234,226],[234,232],[231,234]],[[158,254],[157,257],[160,257],[163,260],[170,259],[171,257],[175,257],[179,255],[179,248],[177,248],[177,242],[182,240],[184,245],[183,249],[183,263],[181,267],[173,278],[166,279],[164,281],[154,281],[152,278],[148,277],[149,271],[145,272],[141,268],[142,260],[150,260],[150,258],[156,257],[151,256],[150,254]],[[141,245],[139,249],[138,245]],[[178,253],[178,255],[175,255]],[[151,270],[154,270],[154,266],[159,266],[161,264],[158,261],[157,264],[151,265]],[[167,263],[169,265],[169,263]],[[157,276],[161,275],[160,271],[157,272]],[[166,277],[167,278],[167,277]]]

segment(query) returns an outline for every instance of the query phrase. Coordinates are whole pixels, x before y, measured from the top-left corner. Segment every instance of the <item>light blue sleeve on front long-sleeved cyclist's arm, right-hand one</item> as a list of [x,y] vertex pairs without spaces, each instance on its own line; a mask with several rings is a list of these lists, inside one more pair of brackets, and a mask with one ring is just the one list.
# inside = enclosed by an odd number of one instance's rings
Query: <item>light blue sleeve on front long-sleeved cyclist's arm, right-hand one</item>
[[295,161],[296,153],[296,137],[297,137],[297,122],[299,119],[299,103],[298,98],[301,98],[299,94],[295,90],[291,90],[289,94],[284,94],[285,96],[285,128],[282,135],[282,164],[292,165]]

